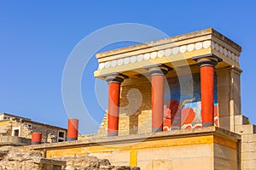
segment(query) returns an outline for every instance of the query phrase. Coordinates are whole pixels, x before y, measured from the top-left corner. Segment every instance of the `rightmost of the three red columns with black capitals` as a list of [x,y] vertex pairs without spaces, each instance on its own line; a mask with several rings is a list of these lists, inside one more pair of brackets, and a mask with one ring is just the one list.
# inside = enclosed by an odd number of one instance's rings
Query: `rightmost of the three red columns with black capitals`
[[201,73],[201,122],[203,127],[214,125],[214,66],[222,59],[216,55],[193,58]]

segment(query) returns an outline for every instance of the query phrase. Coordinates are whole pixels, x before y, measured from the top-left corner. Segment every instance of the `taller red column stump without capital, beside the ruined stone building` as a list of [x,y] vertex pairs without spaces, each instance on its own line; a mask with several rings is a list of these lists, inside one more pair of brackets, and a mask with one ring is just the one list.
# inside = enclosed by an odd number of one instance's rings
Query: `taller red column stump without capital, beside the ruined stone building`
[[79,136],[79,120],[68,119],[67,122],[67,141],[77,140]]

